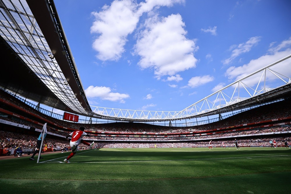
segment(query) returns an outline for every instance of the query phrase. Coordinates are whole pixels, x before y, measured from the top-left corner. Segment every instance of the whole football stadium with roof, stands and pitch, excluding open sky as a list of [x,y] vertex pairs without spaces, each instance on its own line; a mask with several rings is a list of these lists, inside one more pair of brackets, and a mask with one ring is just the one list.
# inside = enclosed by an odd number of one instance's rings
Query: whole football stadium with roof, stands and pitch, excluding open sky
[[0,0],[0,19],[1,193],[290,193],[290,48],[181,111],[106,108],[56,0]]

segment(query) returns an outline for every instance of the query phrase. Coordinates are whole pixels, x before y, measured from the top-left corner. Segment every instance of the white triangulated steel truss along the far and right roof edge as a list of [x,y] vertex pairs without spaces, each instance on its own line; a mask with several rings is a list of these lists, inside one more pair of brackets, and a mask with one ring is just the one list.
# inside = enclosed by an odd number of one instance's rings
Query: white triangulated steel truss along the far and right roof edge
[[182,111],[142,111],[98,106],[91,106],[91,108],[94,113],[103,116],[104,119],[143,122],[195,118],[208,112],[215,114],[222,108],[232,107],[281,86],[290,85],[291,75],[285,71],[291,66],[290,57],[291,54],[221,88]]

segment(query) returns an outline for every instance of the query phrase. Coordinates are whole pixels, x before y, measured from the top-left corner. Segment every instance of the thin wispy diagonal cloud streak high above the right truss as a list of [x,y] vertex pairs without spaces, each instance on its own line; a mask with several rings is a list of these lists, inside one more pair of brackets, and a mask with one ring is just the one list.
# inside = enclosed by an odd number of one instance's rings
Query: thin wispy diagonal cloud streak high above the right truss
[[232,45],[231,49],[233,49],[233,50],[232,50],[232,54],[231,54],[230,58],[223,60],[222,63],[224,65],[230,64],[239,55],[246,53],[246,52],[249,52],[253,46],[258,44],[258,42],[260,41],[260,38],[261,38],[260,36],[251,37],[251,38],[249,38],[248,41],[246,41],[245,43],[239,44],[235,48],[233,48],[234,46]]

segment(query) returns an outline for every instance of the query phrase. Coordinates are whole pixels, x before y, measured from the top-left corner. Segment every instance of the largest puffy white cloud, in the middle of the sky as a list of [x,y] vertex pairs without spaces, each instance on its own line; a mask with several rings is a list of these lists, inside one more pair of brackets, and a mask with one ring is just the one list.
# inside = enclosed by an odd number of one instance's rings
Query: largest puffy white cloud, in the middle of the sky
[[135,53],[141,56],[140,67],[154,69],[158,80],[161,76],[172,76],[196,67],[193,52],[198,47],[194,40],[185,37],[184,26],[179,14],[161,20],[157,17],[148,19],[146,29],[135,45]]

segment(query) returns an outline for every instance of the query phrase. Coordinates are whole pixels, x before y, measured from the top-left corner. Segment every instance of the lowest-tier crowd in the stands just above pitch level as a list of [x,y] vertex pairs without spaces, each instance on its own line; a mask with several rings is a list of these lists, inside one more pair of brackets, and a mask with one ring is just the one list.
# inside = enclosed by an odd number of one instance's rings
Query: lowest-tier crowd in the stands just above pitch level
[[[270,146],[269,141],[276,138],[277,145],[283,146],[284,141],[290,142],[290,137],[265,137],[265,138],[255,138],[255,137],[242,137],[241,140],[239,140],[240,146],[263,146],[267,147]],[[56,150],[70,150],[68,147],[69,142],[67,140],[57,140],[54,138],[46,138],[47,140],[47,147],[48,148],[54,148]],[[223,140],[223,138],[220,139],[214,139],[212,140],[213,147],[221,147],[222,142],[225,143],[226,147],[234,147],[234,141],[229,140]],[[162,141],[156,141],[156,142],[126,142],[126,143],[120,143],[116,141],[111,142],[95,142],[94,147],[95,148],[112,148],[112,147],[207,147],[208,141],[180,141],[180,142],[162,142]],[[16,148],[18,146],[22,147],[36,147],[36,137],[32,135],[26,135],[26,134],[18,134],[18,133],[12,133],[8,131],[0,131],[0,147],[5,148]],[[88,146],[81,145],[80,149],[89,149]]]

